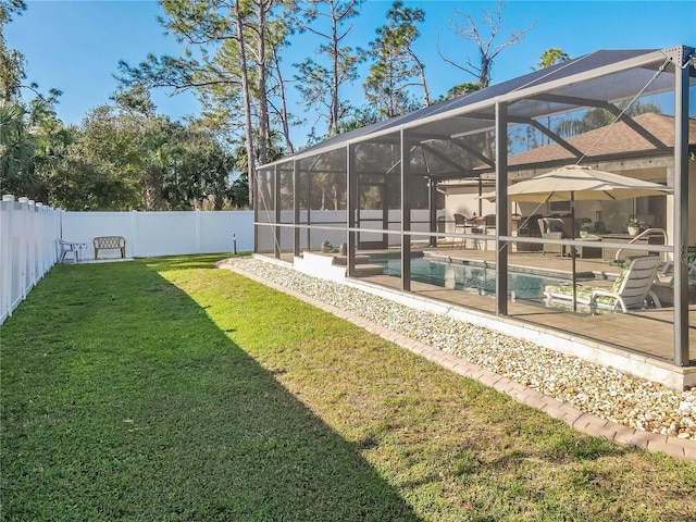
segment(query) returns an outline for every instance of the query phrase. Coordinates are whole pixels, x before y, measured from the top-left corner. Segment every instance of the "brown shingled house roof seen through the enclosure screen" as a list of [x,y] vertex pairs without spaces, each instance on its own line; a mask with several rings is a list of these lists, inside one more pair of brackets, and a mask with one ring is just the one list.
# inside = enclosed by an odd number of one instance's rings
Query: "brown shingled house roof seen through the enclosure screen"
[[[633,119],[639,127],[663,144],[664,148],[674,147],[674,116],[654,112],[639,114]],[[696,119],[689,120],[689,145],[696,145]],[[660,148],[645,135],[636,132],[626,122],[595,128],[567,139],[568,144],[580,150],[585,157],[601,158],[612,154],[635,156],[639,152],[656,153]],[[550,144],[508,158],[509,166],[539,164],[547,162],[577,161],[577,157],[567,148]]]

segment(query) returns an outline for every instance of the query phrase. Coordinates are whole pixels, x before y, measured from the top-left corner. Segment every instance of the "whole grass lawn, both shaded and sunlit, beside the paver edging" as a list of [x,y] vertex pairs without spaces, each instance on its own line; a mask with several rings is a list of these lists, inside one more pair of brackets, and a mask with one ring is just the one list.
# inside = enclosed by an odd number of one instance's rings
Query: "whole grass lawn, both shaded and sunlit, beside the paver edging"
[[2,520],[696,520],[696,464],[217,259],[57,265],[0,328]]

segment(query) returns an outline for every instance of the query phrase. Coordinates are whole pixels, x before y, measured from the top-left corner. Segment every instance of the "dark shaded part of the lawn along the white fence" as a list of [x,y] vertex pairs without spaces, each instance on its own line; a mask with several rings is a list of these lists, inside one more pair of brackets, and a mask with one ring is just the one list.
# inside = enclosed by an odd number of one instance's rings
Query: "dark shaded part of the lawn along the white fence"
[[4,520],[421,520],[142,262],[58,266],[1,364]]

